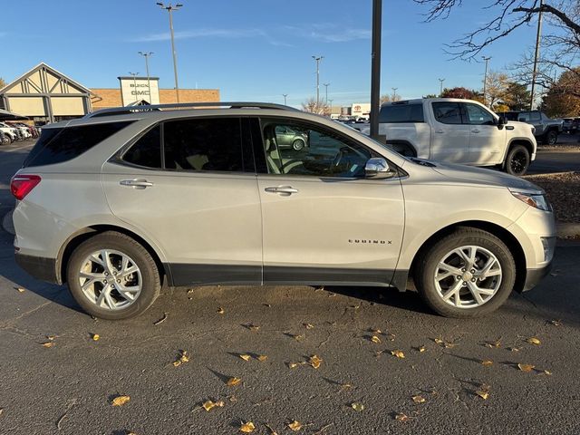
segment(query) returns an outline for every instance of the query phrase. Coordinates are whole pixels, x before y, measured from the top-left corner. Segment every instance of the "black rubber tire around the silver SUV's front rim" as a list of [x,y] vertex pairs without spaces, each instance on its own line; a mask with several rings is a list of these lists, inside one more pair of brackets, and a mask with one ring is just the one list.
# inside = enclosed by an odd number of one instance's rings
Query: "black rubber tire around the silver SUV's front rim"
[[[484,304],[459,308],[443,300],[435,285],[434,277],[439,270],[440,260],[453,249],[465,246],[482,247],[491,252],[498,259],[502,275],[496,293]],[[498,237],[477,228],[460,227],[449,236],[440,239],[418,258],[414,280],[421,298],[436,313],[456,318],[477,317],[497,310],[506,302],[516,282],[516,263],[507,246]]]

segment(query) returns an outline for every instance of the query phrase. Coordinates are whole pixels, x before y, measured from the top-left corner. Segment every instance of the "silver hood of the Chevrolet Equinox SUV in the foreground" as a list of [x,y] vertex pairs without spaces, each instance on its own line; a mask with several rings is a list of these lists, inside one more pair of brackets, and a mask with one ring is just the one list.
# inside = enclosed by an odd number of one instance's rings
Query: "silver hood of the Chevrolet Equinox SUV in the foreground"
[[496,186],[501,188],[544,192],[543,189],[530,183],[526,179],[520,179],[519,177],[506,174],[505,172],[499,172],[495,169],[474,168],[471,166],[440,163],[429,160],[422,161],[427,162],[429,166],[432,165],[432,169],[440,175],[455,181],[463,180],[466,184],[483,184],[486,186]]

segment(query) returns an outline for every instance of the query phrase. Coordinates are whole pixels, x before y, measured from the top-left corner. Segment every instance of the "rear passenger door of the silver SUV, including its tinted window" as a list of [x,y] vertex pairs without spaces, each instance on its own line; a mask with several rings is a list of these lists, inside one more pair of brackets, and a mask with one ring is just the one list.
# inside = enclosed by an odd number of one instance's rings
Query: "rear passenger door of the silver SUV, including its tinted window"
[[162,249],[175,285],[261,283],[260,198],[246,123],[166,121],[102,168],[112,213]]

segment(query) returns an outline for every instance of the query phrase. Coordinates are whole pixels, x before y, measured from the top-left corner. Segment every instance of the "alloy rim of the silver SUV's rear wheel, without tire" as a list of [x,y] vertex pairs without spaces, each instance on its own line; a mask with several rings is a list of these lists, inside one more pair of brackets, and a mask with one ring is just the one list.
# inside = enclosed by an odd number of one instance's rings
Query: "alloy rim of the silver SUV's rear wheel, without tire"
[[87,256],[77,279],[89,302],[110,311],[134,304],[143,284],[140,268],[131,256],[114,249],[101,249]]

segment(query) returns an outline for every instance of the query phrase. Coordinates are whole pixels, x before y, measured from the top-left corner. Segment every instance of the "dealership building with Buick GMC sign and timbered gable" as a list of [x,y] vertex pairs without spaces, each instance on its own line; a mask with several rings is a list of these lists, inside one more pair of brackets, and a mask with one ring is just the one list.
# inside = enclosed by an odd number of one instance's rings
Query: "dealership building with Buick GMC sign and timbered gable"
[[[118,79],[119,88],[88,88],[46,63],[39,63],[0,89],[0,108],[43,125],[110,107],[177,102],[175,89],[160,89],[159,77]],[[179,102],[218,101],[218,89],[179,89]]]

